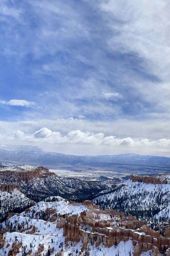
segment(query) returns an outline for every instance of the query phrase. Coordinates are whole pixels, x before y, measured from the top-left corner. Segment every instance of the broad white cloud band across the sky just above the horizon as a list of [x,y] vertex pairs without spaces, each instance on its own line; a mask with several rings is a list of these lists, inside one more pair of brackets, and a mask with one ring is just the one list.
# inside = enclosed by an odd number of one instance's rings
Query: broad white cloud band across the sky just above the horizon
[[77,118],[0,121],[1,143],[40,146],[44,150],[74,155],[169,156],[169,133],[169,122],[156,119],[152,124],[149,120],[102,122]]

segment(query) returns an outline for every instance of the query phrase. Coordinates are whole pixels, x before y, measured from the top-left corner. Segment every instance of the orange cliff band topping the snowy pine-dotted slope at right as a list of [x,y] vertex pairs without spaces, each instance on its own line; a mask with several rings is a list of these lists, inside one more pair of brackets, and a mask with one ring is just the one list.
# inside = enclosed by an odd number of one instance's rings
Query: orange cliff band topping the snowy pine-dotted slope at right
[[170,184],[169,174],[158,174],[155,176],[131,175],[129,177],[133,182],[144,182],[146,184]]

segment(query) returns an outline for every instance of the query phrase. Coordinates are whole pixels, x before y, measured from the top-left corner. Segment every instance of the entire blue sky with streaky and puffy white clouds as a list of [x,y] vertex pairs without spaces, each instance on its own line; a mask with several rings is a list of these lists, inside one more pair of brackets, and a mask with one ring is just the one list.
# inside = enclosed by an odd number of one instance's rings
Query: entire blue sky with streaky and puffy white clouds
[[0,143],[170,157],[168,0],[0,1]]

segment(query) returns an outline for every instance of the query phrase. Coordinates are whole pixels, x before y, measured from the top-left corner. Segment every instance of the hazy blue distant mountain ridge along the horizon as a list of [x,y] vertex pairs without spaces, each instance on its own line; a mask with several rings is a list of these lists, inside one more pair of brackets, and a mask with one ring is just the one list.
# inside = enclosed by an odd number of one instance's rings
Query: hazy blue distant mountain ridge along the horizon
[[137,154],[74,156],[43,151],[37,146],[0,145],[0,161],[21,164],[55,166],[62,164],[79,164],[91,166],[108,166],[110,164],[155,164],[169,165],[169,157],[158,157]]

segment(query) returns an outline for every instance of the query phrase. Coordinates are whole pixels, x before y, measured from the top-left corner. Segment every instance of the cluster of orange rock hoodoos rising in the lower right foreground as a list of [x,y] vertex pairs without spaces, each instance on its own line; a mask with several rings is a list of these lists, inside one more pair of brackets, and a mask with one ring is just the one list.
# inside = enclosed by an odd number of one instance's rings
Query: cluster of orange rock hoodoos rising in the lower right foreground
[[[166,249],[168,254],[168,247],[170,247],[169,232],[170,229],[166,229],[166,236],[161,237],[159,231],[154,231],[148,228],[144,222],[136,220],[132,216],[124,217],[124,214],[119,214],[113,210],[102,211],[99,210],[96,205],[92,203],[87,203],[85,201],[83,204],[89,208],[88,212],[81,212],[80,216],[72,215],[66,217],[63,225],[63,236],[65,236],[66,246],[68,241],[79,242],[81,239],[82,250],[88,246],[88,241],[90,240],[91,245],[98,247],[100,243],[104,246],[112,246],[119,244],[120,241],[132,240],[134,245],[134,256],[139,256],[142,251],[152,250],[152,255],[158,256],[159,251],[163,252]],[[117,225],[113,226],[113,220],[100,220],[98,214],[112,214],[119,217]],[[95,214],[94,214],[95,213]],[[81,224],[89,225],[92,227],[92,231],[85,231],[81,228]],[[140,227],[140,229],[135,230],[135,228]]]

